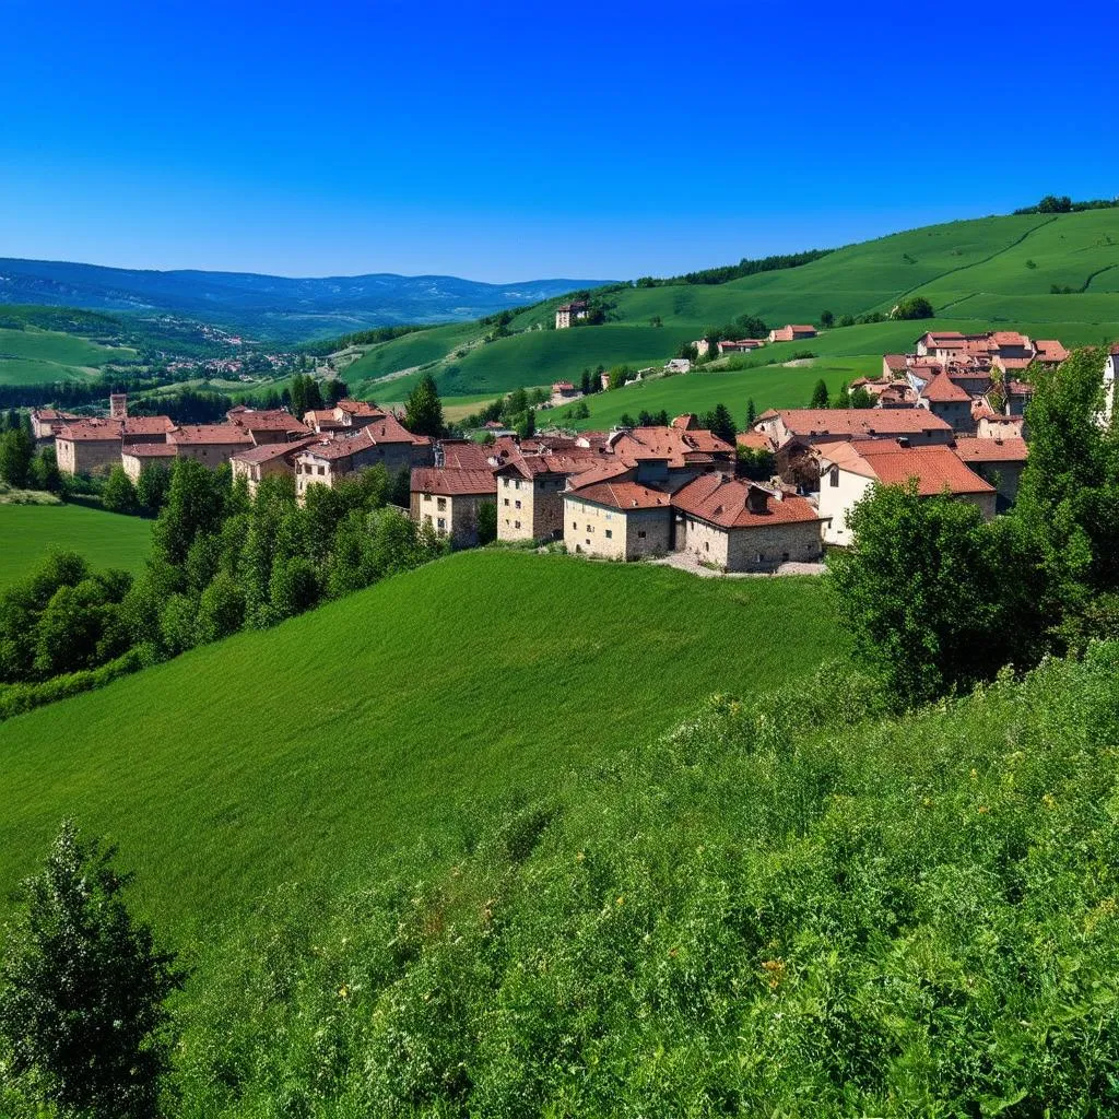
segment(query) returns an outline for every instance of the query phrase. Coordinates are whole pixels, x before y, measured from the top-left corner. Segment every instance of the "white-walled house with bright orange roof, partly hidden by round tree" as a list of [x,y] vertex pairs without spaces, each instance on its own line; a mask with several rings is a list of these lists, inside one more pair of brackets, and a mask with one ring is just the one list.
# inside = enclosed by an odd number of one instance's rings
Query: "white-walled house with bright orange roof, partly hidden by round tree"
[[916,479],[922,497],[947,490],[953,498],[977,506],[985,519],[995,516],[995,487],[970,470],[951,446],[855,439],[817,443],[815,450],[820,470],[819,515],[827,544],[852,543],[850,513],[875,482],[904,486]]

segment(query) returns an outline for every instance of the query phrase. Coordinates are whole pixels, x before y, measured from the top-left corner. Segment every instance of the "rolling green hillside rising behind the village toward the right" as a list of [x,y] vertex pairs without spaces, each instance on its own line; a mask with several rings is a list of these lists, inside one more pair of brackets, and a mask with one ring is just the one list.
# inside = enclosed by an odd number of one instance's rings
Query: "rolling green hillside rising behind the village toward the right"
[[[1053,294],[1054,285],[1072,291]],[[600,327],[546,329],[561,302],[549,300],[516,314],[510,329],[519,332],[513,337],[487,344],[490,328],[480,325],[422,331],[370,348],[346,376],[361,395],[382,399],[403,398],[420,368],[434,374],[446,396],[497,395],[577,377],[599,365],[660,364],[683,341],[742,314],[774,326],[818,323],[825,310],[837,319],[888,313],[913,293],[932,301],[933,322],[837,329],[811,348],[829,356],[881,356],[904,349],[933,326],[1022,329],[1070,346],[1119,337],[1119,209],[952,222],[723,284],[631,288],[609,297],[612,320]],[[655,319],[661,326],[652,326]],[[781,352],[767,356],[778,360]]]

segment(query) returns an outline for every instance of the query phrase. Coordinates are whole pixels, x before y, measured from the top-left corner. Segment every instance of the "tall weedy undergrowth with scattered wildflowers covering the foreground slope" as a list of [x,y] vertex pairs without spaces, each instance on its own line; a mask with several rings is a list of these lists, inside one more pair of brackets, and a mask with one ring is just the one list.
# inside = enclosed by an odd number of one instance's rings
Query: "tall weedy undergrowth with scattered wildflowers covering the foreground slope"
[[881,720],[716,700],[368,891],[278,891],[187,1116],[1099,1116],[1119,1107],[1119,650]]

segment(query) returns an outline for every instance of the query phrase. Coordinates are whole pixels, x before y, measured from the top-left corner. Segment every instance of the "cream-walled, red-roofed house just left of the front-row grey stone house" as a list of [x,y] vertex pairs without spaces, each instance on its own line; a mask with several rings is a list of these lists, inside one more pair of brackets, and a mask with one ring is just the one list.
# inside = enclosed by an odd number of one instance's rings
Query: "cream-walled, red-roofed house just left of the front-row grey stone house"
[[669,497],[640,482],[592,482],[567,490],[563,515],[568,552],[604,560],[640,560],[671,551]]

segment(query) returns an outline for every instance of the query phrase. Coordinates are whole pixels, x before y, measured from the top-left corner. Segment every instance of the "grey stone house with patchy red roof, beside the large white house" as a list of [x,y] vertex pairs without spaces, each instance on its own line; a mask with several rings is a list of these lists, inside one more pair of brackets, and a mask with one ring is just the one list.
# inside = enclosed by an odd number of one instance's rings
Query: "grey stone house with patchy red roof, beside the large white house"
[[677,552],[724,571],[773,571],[822,552],[820,515],[802,497],[730,474],[703,474],[671,498]]

